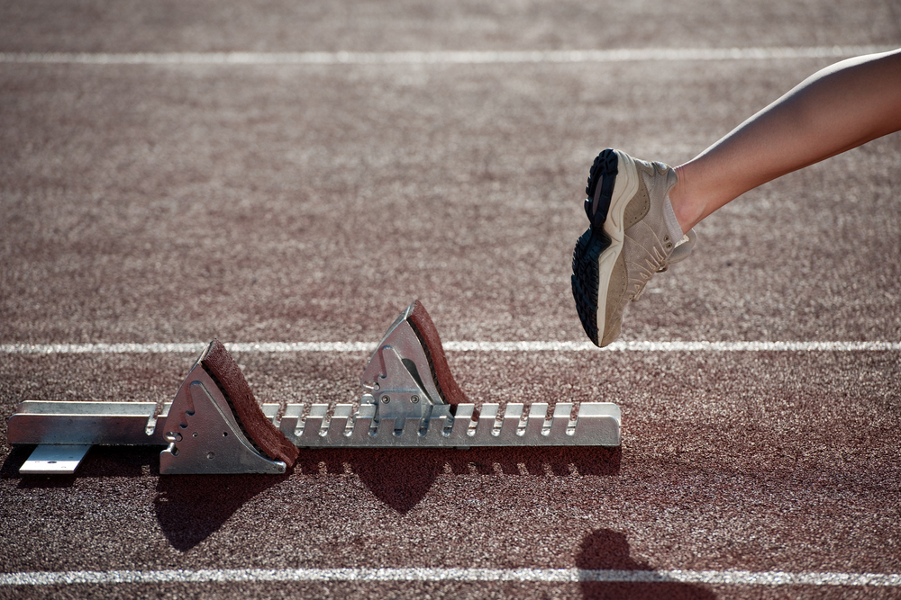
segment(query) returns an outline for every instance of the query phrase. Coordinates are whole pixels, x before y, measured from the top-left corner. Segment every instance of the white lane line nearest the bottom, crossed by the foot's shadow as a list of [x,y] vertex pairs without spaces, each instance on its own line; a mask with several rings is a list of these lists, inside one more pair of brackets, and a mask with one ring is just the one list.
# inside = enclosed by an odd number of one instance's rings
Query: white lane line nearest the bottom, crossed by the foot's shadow
[[675,582],[734,586],[901,587],[901,574],[587,569],[178,569],[0,574],[0,585],[2,586],[257,581],[537,581],[560,583],[597,581]]

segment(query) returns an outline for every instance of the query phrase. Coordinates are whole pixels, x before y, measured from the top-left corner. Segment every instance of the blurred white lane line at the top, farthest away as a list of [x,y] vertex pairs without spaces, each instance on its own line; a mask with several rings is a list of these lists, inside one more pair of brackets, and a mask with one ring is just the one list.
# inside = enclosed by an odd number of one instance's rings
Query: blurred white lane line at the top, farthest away
[[79,65],[478,65],[633,62],[638,60],[771,60],[843,58],[890,46],[805,48],[635,48],[605,50],[460,50],[434,52],[2,52],[0,63]]

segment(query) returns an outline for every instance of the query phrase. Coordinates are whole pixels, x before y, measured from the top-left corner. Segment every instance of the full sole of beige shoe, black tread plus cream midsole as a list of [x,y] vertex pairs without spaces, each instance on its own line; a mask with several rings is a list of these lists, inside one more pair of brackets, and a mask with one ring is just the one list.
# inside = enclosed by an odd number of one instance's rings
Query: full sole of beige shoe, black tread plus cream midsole
[[[615,265],[623,254],[625,208],[638,188],[638,169],[632,157],[610,148],[597,156],[586,188],[594,218],[573,250],[571,278],[578,318],[597,346],[606,345],[605,333],[613,331],[614,324],[606,318],[607,296]],[[591,212],[587,212],[590,218]]]

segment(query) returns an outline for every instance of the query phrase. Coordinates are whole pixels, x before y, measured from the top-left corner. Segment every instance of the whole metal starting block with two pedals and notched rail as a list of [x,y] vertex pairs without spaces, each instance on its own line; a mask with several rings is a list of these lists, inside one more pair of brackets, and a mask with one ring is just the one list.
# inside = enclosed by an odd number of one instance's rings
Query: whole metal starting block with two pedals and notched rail
[[611,402],[483,403],[454,381],[432,319],[417,300],[369,358],[359,405],[259,405],[217,340],[162,406],[154,402],[19,404],[9,443],[37,444],[22,474],[71,474],[92,445],[159,445],[160,474],[284,473],[316,448],[618,446],[620,409]]

